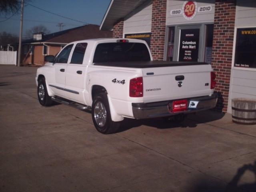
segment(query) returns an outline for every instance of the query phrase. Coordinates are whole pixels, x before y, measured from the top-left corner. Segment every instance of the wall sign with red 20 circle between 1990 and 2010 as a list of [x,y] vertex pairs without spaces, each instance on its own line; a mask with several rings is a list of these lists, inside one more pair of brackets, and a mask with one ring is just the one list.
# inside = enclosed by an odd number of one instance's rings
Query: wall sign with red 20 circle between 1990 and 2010
[[211,5],[197,6],[196,1],[185,1],[182,9],[173,9],[170,11],[171,16],[182,14],[186,20],[191,20],[196,16],[197,12],[208,12],[212,10]]

